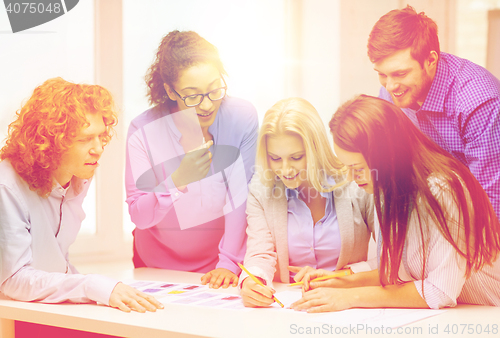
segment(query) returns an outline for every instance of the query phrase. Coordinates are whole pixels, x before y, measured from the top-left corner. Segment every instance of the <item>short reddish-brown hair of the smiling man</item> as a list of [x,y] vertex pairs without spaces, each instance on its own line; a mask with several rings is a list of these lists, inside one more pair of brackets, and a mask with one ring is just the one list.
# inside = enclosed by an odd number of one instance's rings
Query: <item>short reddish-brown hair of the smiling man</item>
[[424,66],[431,51],[440,53],[436,23],[413,7],[395,9],[382,16],[368,38],[368,57],[376,63],[398,50],[411,48],[412,58]]

